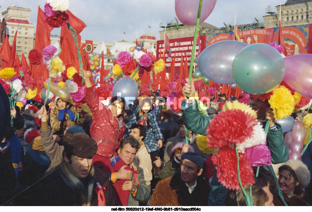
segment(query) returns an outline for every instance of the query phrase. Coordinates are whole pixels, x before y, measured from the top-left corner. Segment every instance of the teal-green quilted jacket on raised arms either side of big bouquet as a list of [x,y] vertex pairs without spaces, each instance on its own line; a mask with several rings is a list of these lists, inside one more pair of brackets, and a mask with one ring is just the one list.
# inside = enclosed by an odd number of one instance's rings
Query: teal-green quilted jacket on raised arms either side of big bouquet
[[[208,116],[199,115],[198,105],[197,102],[194,102],[192,106],[185,107],[185,100],[181,103],[182,113],[183,113],[183,119],[184,124],[186,128],[189,130],[202,134],[207,135],[206,128],[209,125],[211,119],[209,119]],[[282,128],[280,124],[275,123],[277,129],[271,130],[269,129],[268,135],[267,135],[267,146],[270,149],[271,153],[271,159],[273,164],[277,163],[284,163],[288,160],[289,153],[287,151],[284,136],[282,133]],[[268,171],[270,171],[273,176],[275,176],[274,170],[272,166],[264,166],[264,168]],[[275,177],[275,181],[278,182],[277,178]],[[280,190],[280,186],[277,186],[279,190],[279,196],[280,199],[283,201],[284,205],[287,205],[285,203],[283,194]],[[213,191],[213,185],[211,186],[212,193]]]

